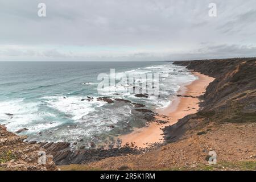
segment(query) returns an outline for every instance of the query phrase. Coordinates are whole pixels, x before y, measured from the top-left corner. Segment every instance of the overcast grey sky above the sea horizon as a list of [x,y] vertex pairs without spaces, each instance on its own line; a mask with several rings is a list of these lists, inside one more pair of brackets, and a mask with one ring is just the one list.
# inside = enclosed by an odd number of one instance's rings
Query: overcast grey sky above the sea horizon
[[0,61],[255,56],[255,0],[0,0]]

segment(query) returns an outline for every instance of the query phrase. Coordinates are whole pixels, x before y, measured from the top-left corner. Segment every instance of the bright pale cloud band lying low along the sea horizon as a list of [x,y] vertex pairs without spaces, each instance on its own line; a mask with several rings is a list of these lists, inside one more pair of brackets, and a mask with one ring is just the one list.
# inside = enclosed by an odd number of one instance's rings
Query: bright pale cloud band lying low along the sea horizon
[[226,57],[255,57],[256,46],[227,45],[227,44],[202,44],[200,48],[187,51],[162,51],[138,50],[115,53],[112,51],[100,52],[65,52],[58,49],[45,49],[36,51],[7,49],[0,52],[0,59],[6,60],[46,60],[46,61],[160,61],[160,60],[195,60]]

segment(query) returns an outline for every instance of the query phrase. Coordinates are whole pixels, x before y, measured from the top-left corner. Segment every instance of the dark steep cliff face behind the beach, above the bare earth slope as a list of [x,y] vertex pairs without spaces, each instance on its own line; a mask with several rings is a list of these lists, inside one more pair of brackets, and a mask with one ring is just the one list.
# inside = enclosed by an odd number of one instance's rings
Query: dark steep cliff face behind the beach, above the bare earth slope
[[166,127],[167,142],[192,129],[220,123],[256,122],[256,59],[176,61],[188,69],[216,78],[201,98],[202,110]]

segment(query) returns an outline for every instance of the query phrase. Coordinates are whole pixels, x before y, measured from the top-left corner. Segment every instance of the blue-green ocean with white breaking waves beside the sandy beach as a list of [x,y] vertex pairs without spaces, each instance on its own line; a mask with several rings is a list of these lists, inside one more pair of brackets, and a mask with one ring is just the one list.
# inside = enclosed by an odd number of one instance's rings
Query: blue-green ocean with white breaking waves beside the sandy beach
[[[109,74],[110,69],[131,75],[158,73],[159,96],[139,98],[114,90],[99,93],[97,77]],[[175,96],[180,85],[196,79],[186,68],[167,61],[0,62],[0,124],[13,132],[28,129],[19,135],[27,135],[29,141],[80,142],[89,147],[91,142],[104,143],[146,126],[132,104],[108,104],[98,97],[122,98],[155,110],[170,105],[170,96]]]

